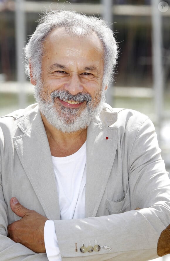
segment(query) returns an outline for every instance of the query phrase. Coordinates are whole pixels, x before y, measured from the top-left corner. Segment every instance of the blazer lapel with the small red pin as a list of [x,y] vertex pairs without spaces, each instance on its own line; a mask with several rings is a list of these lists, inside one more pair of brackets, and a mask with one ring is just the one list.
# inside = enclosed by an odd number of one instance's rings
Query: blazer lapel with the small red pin
[[[115,121],[116,120],[117,118]],[[96,216],[113,166],[118,143],[118,134],[118,127],[107,127],[103,126],[102,123],[97,124],[96,122],[93,122],[88,127],[86,145],[85,217]]]

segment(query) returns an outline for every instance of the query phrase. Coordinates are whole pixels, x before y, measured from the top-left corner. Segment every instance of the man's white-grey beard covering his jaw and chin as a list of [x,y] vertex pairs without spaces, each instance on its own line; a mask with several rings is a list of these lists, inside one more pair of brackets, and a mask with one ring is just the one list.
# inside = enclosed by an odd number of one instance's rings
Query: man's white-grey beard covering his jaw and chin
[[[100,100],[100,102],[98,105],[96,105],[96,107],[93,104],[94,101],[92,101],[91,96],[88,94],[91,100],[86,102],[86,107],[84,109],[66,108],[58,102],[60,104],[60,110],[57,110],[55,108],[52,94],[50,101],[42,99],[41,93],[43,87],[41,86],[42,85],[39,84],[35,87],[35,98],[39,104],[40,112],[53,127],[60,130],[61,132],[70,133],[76,132],[80,129],[85,129],[95,119],[96,115],[99,115],[103,109],[103,103],[105,102],[104,88],[102,88],[100,93],[98,93],[98,100]],[[64,90],[54,91],[53,93],[58,92],[62,93],[62,97],[65,96],[66,92],[68,93],[68,91]],[[76,95],[74,95],[74,97],[76,97]],[[77,99],[75,98],[75,100]],[[82,110],[81,113],[79,113],[80,110]]]

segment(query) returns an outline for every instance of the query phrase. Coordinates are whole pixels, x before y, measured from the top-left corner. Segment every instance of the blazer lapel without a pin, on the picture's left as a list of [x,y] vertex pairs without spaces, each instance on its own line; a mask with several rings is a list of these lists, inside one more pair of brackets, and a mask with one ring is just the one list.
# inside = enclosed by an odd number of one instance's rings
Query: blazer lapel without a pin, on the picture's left
[[14,137],[13,143],[47,218],[60,219],[60,206],[50,147],[40,112],[38,111],[35,116],[31,129],[28,127],[29,122],[30,118],[27,115],[21,124],[18,124],[24,134]]

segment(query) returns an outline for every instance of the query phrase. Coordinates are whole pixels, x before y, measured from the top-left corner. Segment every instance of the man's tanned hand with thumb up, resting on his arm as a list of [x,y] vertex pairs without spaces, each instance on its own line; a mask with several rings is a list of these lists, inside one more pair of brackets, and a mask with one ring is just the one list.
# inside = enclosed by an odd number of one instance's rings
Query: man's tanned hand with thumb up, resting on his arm
[[48,219],[34,210],[23,207],[16,197],[10,200],[12,211],[22,217],[8,225],[8,237],[35,253],[45,253],[44,225]]

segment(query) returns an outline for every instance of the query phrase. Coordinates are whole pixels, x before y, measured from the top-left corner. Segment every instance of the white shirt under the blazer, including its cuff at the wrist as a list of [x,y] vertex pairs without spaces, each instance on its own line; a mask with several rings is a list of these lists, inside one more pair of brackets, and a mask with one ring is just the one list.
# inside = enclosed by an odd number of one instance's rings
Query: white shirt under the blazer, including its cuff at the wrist
[[[67,157],[52,156],[60,204],[60,219],[85,217],[86,142]],[[60,249],[53,221],[46,221],[44,241],[49,261],[60,261]]]

